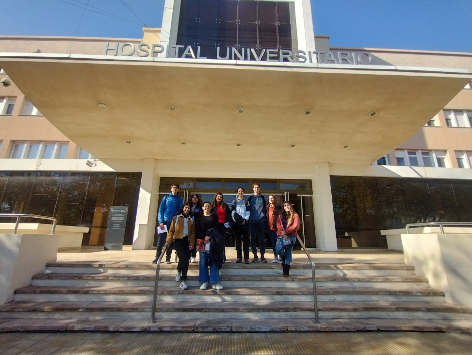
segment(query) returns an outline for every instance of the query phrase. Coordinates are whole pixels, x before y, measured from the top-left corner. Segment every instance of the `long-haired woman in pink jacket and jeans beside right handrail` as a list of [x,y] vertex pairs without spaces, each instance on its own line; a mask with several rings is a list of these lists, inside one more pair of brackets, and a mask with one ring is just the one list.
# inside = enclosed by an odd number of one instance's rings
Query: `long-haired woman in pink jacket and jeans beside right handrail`
[[[300,219],[298,214],[293,210],[293,206],[289,201],[283,204],[283,211],[277,216],[277,236],[289,238],[295,245],[297,230],[300,228]],[[288,277],[290,272],[290,264],[292,263],[293,246],[281,249],[277,242],[277,254],[282,258],[283,277]]]

